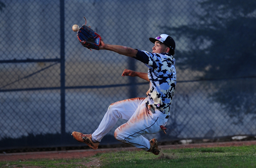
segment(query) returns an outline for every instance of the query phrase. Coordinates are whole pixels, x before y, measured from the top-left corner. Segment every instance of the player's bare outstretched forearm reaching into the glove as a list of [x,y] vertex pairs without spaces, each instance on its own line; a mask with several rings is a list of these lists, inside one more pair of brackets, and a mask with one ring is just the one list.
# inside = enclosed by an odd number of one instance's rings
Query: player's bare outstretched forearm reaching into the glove
[[130,48],[130,47],[125,47],[122,45],[112,45],[112,44],[106,44],[103,41],[100,42],[100,49],[106,49],[109,51],[114,51],[116,53],[119,53],[121,55],[126,55],[128,57],[136,57],[136,54],[138,50]]

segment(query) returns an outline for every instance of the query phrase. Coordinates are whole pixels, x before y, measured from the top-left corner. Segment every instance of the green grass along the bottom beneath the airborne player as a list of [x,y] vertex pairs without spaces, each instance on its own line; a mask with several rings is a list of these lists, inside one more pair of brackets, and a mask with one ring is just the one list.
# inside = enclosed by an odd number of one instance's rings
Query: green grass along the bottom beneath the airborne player
[[158,156],[143,150],[122,151],[82,159],[0,162],[0,167],[79,168],[95,159],[102,168],[255,168],[256,146],[168,149]]

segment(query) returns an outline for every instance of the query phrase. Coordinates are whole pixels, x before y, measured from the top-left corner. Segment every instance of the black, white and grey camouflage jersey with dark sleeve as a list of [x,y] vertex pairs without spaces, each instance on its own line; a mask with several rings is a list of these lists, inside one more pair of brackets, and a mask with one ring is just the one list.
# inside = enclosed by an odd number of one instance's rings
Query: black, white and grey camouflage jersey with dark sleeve
[[138,50],[135,59],[148,67],[150,89],[147,92],[146,103],[169,115],[176,86],[175,58],[169,53]]

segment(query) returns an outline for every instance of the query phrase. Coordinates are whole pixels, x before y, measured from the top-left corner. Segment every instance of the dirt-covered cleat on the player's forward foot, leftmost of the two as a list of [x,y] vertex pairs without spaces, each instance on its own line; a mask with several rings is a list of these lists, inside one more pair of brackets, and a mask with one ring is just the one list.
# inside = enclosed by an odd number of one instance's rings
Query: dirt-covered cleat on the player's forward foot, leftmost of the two
[[72,132],[71,134],[78,142],[86,143],[90,148],[96,150],[100,142],[93,142],[92,141],[92,134],[83,134],[81,132]]

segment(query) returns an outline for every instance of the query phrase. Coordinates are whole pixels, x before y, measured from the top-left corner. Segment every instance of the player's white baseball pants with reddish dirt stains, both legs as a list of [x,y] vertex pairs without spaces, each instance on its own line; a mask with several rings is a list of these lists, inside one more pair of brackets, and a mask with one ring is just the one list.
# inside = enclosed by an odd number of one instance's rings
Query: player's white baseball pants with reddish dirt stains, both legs
[[111,104],[100,125],[92,133],[98,142],[116,125],[118,119],[126,119],[127,123],[116,128],[114,136],[117,140],[149,150],[150,142],[143,134],[155,134],[161,130],[160,126],[167,123],[166,115],[157,109],[152,113],[145,102],[145,98],[126,99]]

